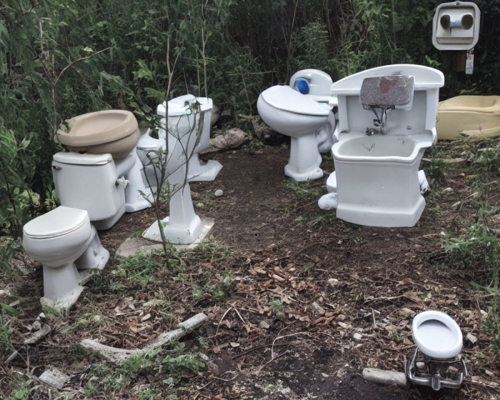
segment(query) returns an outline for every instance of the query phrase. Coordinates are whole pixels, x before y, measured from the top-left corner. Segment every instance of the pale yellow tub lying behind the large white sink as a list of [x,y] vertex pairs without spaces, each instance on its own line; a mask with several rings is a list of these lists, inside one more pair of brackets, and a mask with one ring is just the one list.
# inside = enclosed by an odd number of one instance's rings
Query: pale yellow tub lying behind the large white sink
[[456,96],[437,106],[437,139],[500,135],[500,96]]

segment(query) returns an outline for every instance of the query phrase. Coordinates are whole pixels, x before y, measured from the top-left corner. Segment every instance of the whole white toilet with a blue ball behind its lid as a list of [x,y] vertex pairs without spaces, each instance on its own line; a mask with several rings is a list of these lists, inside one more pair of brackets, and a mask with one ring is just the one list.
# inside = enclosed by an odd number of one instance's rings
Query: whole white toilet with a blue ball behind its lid
[[290,136],[290,158],[284,173],[296,181],[323,176],[320,151],[331,145],[335,128],[336,98],[330,93],[331,83],[327,73],[303,69],[292,75],[289,85],[271,86],[258,96],[262,120]]

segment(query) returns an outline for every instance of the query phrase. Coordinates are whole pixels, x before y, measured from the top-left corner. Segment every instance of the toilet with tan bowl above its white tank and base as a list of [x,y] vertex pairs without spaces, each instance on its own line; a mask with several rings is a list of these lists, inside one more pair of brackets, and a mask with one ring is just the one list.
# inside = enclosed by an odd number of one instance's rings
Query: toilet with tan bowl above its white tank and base
[[61,205],[88,211],[97,229],[109,229],[126,212],[151,204],[135,145],[137,120],[130,111],[89,112],[67,120],[59,141],[71,151],[55,153],[52,175]]

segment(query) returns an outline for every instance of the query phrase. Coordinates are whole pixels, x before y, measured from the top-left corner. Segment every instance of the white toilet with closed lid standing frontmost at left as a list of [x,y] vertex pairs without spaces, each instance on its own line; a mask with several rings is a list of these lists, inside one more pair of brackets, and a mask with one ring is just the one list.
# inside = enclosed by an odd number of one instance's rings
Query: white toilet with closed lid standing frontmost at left
[[102,247],[86,210],[59,206],[23,226],[22,245],[43,266],[44,306],[67,311],[83,287],[88,269],[102,269],[109,252]]

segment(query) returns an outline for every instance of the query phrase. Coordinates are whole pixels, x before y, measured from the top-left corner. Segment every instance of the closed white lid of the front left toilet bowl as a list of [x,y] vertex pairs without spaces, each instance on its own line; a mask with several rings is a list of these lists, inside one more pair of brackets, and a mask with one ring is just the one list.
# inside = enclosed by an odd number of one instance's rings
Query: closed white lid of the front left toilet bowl
[[90,223],[86,210],[60,205],[25,223],[22,231],[29,237],[48,238],[72,232],[85,223]]

